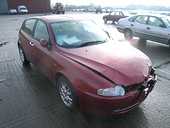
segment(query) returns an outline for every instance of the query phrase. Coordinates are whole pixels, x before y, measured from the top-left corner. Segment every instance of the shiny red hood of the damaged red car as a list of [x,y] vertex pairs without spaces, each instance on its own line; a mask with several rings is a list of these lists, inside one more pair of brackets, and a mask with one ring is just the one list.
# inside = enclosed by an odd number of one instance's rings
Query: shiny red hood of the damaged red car
[[152,65],[144,53],[127,42],[107,42],[63,51],[70,59],[125,86],[143,82]]

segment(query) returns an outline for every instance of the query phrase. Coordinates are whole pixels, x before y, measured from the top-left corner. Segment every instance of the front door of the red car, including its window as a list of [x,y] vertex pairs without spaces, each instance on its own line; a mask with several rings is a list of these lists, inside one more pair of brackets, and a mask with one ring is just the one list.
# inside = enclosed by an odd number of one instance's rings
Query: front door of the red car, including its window
[[[34,49],[32,51],[32,58],[34,65],[49,79],[52,78],[53,66],[55,61],[52,59],[53,51],[47,24],[38,20],[34,30]],[[46,40],[47,46],[42,46],[40,41]]]

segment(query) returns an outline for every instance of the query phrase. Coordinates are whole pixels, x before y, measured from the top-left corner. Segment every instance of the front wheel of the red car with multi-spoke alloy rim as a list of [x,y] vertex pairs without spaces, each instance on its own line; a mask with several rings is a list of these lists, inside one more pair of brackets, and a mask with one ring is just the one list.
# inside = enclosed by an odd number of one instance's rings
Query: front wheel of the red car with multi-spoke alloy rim
[[78,98],[71,83],[63,76],[57,79],[57,95],[59,95],[62,103],[69,110],[75,110],[78,106]]

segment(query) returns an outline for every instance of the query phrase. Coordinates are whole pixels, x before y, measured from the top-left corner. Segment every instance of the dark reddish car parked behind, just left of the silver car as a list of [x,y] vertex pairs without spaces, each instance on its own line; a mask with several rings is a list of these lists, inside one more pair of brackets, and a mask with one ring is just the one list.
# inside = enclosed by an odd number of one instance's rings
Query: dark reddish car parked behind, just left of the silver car
[[121,18],[125,18],[127,15],[123,11],[113,11],[108,15],[103,16],[104,23],[107,24],[108,21],[112,21],[112,23],[117,22]]

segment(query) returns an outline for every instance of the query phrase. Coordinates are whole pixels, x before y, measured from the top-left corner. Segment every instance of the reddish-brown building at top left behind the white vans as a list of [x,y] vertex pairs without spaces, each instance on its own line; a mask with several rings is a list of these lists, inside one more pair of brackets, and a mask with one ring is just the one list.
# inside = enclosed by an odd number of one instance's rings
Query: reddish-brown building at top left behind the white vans
[[8,13],[9,9],[17,9],[19,5],[25,5],[29,13],[50,11],[50,0],[0,0],[0,13]]

